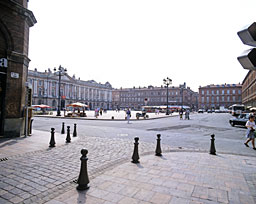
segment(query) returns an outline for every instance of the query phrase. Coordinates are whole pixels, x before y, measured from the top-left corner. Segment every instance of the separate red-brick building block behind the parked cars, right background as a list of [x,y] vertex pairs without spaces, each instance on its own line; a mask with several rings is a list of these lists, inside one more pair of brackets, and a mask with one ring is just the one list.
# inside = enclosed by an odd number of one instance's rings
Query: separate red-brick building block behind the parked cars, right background
[[207,85],[199,87],[199,108],[219,109],[229,108],[233,104],[242,103],[241,84]]

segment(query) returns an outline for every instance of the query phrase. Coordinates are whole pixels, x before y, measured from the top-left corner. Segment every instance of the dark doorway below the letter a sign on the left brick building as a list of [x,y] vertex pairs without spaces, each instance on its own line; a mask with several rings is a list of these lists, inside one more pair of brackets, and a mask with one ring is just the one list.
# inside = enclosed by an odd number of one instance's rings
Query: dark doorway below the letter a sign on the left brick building
[[6,89],[6,74],[0,70],[0,135],[3,135],[4,131],[4,99]]

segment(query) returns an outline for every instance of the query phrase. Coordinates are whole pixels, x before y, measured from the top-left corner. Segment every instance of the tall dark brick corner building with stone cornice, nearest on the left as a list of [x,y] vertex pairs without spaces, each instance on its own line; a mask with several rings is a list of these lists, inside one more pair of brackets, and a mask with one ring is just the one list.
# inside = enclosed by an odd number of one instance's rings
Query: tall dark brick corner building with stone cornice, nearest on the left
[[24,135],[29,28],[28,0],[0,1],[0,135]]

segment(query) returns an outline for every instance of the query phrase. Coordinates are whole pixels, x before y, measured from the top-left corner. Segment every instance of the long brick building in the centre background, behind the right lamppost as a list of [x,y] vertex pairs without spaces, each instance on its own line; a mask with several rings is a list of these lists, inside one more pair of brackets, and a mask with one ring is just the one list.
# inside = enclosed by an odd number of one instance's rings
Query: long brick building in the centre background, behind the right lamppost
[[[112,106],[116,108],[141,109],[142,106],[163,106],[167,105],[167,87],[138,87],[115,89],[112,93]],[[168,105],[189,106],[197,109],[198,94],[186,87],[168,87]]]

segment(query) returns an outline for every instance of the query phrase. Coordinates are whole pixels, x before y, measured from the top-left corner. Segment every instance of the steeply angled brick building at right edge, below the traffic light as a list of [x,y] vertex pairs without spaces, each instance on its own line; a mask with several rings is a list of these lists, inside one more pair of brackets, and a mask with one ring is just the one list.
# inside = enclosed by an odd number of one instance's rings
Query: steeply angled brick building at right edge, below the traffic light
[[245,106],[256,107],[256,73],[249,71],[242,83],[242,102]]

